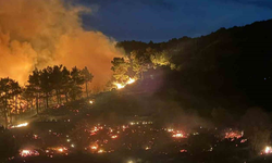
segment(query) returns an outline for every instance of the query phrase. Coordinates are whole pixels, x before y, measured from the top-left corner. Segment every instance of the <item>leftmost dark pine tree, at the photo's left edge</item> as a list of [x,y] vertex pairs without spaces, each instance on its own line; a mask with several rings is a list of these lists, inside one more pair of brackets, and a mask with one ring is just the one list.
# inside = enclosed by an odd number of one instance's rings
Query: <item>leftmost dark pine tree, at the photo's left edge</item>
[[0,101],[2,103],[2,110],[4,115],[5,128],[8,128],[9,120],[11,115],[11,101],[12,99],[21,93],[21,87],[18,83],[7,77],[0,79]]

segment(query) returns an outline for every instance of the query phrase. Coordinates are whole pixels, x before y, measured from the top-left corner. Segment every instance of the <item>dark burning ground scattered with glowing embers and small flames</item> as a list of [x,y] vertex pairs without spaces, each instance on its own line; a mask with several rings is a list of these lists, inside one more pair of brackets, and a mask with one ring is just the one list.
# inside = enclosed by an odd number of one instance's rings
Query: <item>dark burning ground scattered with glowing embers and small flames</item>
[[[217,127],[188,112],[178,116],[183,121],[145,112],[122,113],[113,109],[110,112],[101,108],[101,98],[112,99],[109,95],[100,95],[92,100],[67,103],[47,110],[39,118],[3,130],[2,137],[9,141],[1,145],[12,147],[14,152],[4,161],[71,162],[76,158],[127,163],[222,162],[222,158],[224,162],[252,160],[251,137],[242,128]],[[264,145],[254,159],[269,159],[271,147]]]

